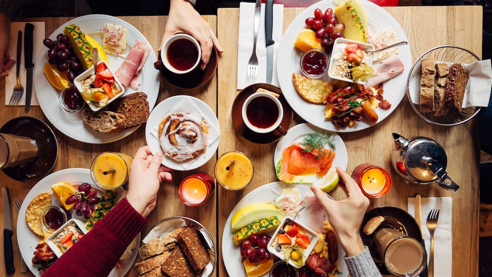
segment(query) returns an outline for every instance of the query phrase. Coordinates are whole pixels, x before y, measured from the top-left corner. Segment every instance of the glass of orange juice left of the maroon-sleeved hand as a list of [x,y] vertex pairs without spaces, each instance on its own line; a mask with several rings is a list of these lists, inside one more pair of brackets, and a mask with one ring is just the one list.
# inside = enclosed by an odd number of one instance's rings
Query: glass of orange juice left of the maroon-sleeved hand
[[132,156],[123,153],[103,152],[92,161],[92,180],[102,189],[117,189],[128,180],[132,160]]

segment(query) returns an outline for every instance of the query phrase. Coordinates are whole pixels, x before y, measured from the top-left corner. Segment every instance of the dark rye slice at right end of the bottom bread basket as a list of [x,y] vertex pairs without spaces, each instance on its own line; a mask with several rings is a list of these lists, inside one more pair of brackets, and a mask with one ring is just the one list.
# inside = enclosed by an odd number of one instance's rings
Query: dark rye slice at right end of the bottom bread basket
[[197,232],[194,227],[188,226],[177,237],[178,244],[183,248],[191,267],[196,272],[203,270],[210,261],[208,251],[203,246]]

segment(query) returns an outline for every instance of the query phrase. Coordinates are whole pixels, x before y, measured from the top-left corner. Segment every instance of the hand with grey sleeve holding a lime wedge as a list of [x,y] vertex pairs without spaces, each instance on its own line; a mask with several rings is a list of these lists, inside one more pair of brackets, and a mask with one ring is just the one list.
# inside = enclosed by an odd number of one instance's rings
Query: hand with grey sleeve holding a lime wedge
[[310,189],[326,210],[328,220],[335,229],[347,257],[352,257],[363,252],[365,248],[359,229],[369,207],[369,199],[362,193],[356,181],[349,174],[340,167],[336,167],[336,170],[343,182],[343,184],[338,183],[338,186],[347,195],[346,199],[335,201],[328,198],[323,191],[315,186],[311,186]]

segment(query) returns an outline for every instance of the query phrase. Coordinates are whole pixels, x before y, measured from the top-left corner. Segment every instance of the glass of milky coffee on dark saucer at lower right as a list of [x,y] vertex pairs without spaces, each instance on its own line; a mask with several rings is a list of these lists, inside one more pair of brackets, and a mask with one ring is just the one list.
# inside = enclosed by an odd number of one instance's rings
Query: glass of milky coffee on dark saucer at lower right
[[415,277],[426,268],[427,253],[422,243],[400,231],[381,228],[374,234],[374,244],[393,276]]

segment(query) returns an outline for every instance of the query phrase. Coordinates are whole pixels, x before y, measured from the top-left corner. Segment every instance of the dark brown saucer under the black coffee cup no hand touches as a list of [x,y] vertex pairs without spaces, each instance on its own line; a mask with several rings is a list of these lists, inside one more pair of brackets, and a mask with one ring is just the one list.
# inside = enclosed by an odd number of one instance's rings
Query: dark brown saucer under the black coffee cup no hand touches
[[264,88],[271,92],[280,94],[279,100],[280,103],[282,104],[282,107],[284,108],[284,117],[282,118],[282,122],[280,123],[280,126],[282,126],[285,130],[288,130],[290,128],[292,123],[292,118],[294,116],[294,112],[292,111],[291,106],[289,106],[289,103],[287,103],[287,100],[285,100],[280,88],[267,83],[255,83],[246,86],[236,96],[236,99],[234,99],[234,103],[232,105],[232,121],[234,123],[234,128],[236,128],[236,131],[238,131],[238,133],[243,138],[246,138],[247,140],[253,143],[260,143],[260,144],[271,143],[282,138],[282,134],[280,134],[276,130],[266,134],[258,134],[247,128],[246,124],[243,121],[243,115],[242,115],[243,103],[246,101],[246,98],[249,95],[255,93],[258,88]]

